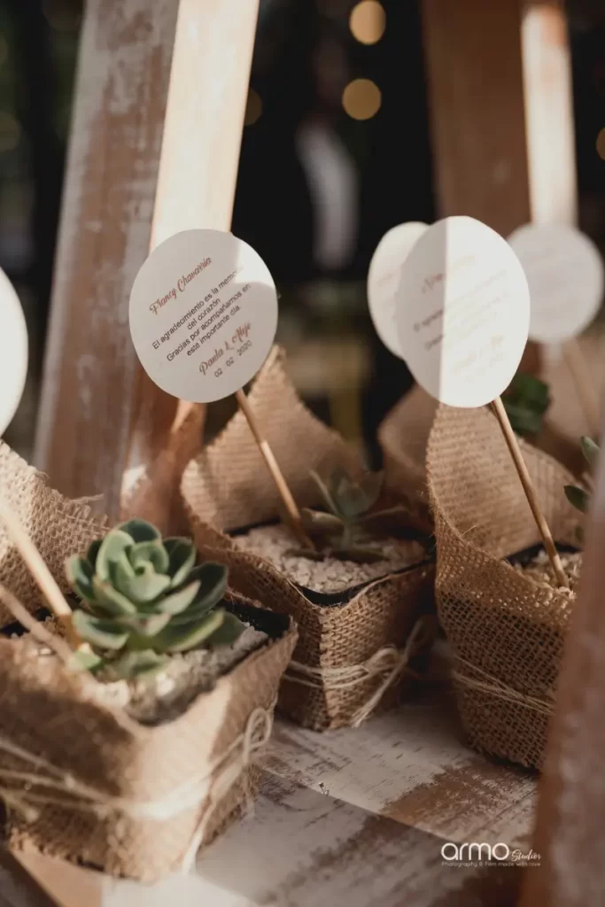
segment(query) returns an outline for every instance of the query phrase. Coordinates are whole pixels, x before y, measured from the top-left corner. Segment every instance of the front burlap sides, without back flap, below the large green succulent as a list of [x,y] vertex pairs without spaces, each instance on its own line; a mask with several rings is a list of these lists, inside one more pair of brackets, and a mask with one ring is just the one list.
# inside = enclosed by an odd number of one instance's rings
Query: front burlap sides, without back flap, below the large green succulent
[[[239,597],[235,600],[241,604]],[[258,608],[250,607],[248,613],[257,615],[255,622],[259,614],[277,620]],[[145,883],[186,870],[198,845],[210,843],[256,794],[257,748],[270,730],[279,679],[296,639],[291,622],[282,621],[278,638],[221,677],[180,717],[158,727],[142,727],[122,709],[95,701],[93,678],[74,676],[58,658],[33,660],[23,639],[0,639],[0,785],[8,785],[10,846]],[[263,736],[249,746],[248,732],[257,733],[250,723],[259,717]],[[58,804],[36,800],[48,796],[47,785],[24,788],[19,776],[10,775],[32,766],[9,755],[7,741],[46,760],[53,769],[51,779],[57,772],[63,775],[61,789],[50,788]],[[246,746],[248,753],[243,752]],[[229,763],[223,756],[229,756]],[[34,765],[34,773],[44,776],[42,765]],[[209,771],[215,767],[202,799],[192,795],[181,803],[180,795],[169,818],[151,818],[147,812],[139,816],[144,807],[171,802],[179,789],[187,793],[190,779],[203,779],[206,766]],[[75,780],[70,783],[70,778]],[[100,796],[94,808],[86,798],[79,799],[79,785]],[[192,785],[191,790],[198,788]],[[38,815],[27,821],[21,807],[12,804],[11,791]],[[126,805],[116,807],[116,798]]]

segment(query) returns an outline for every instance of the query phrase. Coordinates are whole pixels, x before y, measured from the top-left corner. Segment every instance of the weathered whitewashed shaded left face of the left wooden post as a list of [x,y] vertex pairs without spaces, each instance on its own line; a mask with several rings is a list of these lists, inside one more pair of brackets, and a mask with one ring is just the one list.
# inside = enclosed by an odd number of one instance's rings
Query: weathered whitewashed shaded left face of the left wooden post
[[103,493],[111,514],[136,376],[128,298],[149,250],[177,5],[90,0],[81,38],[35,461],[63,493]]

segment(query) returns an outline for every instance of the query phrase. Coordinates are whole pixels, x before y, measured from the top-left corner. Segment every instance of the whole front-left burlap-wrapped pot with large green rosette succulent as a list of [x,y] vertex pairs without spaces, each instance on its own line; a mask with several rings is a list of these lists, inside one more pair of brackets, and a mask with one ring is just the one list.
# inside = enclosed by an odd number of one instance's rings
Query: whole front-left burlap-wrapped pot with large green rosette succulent
[[5,445],[0,499],[72,592],[63,626],[0,521],[8,843],[144,882],[180,871],[254,795],[292,622],[187,538],[107,532]]

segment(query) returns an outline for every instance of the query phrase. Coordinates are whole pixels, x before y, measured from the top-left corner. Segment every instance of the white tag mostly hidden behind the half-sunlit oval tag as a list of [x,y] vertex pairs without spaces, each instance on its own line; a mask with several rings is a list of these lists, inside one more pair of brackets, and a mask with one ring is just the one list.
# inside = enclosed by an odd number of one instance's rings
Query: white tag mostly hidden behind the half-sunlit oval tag
[[401,358],[395,323],[395,293],[401,266],[428,224],[410,220],[390,229],[376,246],[367,274],[367,303],[376,334],[386,348]]

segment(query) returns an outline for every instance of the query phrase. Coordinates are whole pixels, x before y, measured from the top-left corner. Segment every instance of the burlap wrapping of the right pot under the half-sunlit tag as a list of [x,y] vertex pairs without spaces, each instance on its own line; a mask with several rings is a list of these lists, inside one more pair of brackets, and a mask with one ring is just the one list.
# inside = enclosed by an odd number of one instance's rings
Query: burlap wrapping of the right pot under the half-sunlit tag
[[[563,493],[571,473],[521,445],[553,536],[572,544],[578,514]],[[540,767],[571,601],[503,561],[541,537],[491,412],[440,406],[427,469],[437,607],[464,726],[475,746]]]

